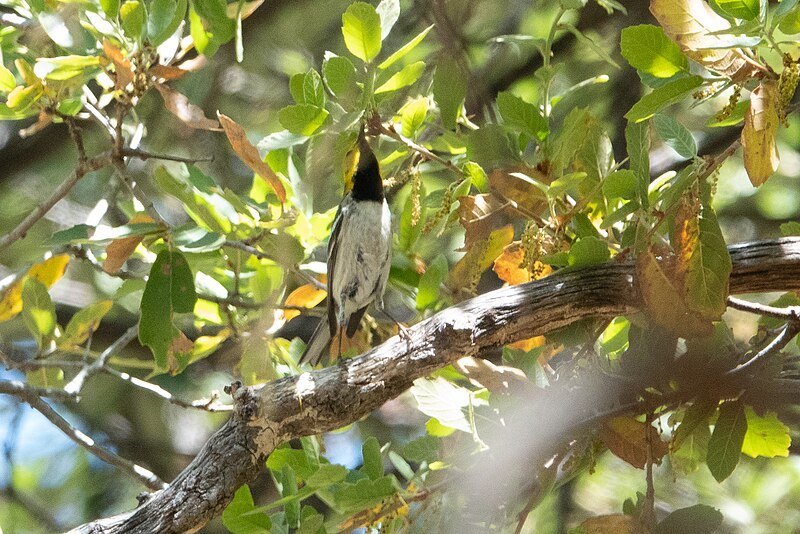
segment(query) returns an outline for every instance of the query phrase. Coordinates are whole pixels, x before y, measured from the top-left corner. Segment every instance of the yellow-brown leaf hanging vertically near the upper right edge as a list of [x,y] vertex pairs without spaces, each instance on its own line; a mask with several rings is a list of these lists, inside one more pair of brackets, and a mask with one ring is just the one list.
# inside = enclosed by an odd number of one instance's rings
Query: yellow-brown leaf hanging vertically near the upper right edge
[[765,80],[750,94],[750,109],[744,117],[742,149],[744,168],[750,182],[758,187],[778,170],[780,156],[775,136],[778,133],[778,88]]

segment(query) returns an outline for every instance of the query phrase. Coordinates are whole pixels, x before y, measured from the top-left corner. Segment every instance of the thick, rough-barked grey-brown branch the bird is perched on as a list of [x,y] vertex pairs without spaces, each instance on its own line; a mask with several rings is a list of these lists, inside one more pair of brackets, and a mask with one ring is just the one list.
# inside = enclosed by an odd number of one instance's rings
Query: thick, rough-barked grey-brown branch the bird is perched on
[[[732,294],[800,289],[800,238],[730,247]],[[233,391],[236,410],[194,461],[136,510],[74,533],[194,532],[256,477],[279,444],[340,428],[458,358],[546,334],[587,317],[611,318],[640,303],[631,263],[560,272],[448,308],[363,356]],[[596,400],[596,399],[595,399]],[[592,413],[591,398],[581,399]],[[574,403],[573,403],[574,407]],[[590,409],[591,408],[591,409]]]

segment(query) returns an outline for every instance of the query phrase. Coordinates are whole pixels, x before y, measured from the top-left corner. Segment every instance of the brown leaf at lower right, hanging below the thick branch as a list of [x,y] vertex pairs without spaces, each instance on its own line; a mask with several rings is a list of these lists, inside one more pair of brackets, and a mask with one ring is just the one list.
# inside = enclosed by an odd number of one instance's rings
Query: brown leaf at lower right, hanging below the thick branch
[[615,456],[634,467],[644,469],[647,463],[648,433],[653,462],[660,464],[661,458],[669,452],[669,446],[661,441],[658,431],[652,425],[629,416],[615,417],[603,423],[599,437]]

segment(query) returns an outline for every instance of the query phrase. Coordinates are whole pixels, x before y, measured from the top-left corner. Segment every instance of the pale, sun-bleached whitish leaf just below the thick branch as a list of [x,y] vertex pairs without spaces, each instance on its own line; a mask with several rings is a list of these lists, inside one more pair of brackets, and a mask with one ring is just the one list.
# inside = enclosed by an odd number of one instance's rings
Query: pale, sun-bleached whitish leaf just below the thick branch
[[444,378],[433,380],[419,378],[411,387],[411,394],[417,400],[419,411],[436,418],[442,425],[463,432],[472,428],[462,408],[470,403],[469,390],[456,386]]

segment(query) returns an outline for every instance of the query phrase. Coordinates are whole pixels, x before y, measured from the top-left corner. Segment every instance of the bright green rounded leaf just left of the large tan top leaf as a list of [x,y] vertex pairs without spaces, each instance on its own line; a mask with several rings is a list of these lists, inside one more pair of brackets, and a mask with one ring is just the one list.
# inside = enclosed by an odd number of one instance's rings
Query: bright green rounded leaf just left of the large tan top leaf
[[670,78],[689,70],[689,60],[660,26],[641,24],[624,28],[620,51],[632,67],[657,78]]

